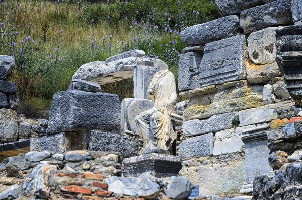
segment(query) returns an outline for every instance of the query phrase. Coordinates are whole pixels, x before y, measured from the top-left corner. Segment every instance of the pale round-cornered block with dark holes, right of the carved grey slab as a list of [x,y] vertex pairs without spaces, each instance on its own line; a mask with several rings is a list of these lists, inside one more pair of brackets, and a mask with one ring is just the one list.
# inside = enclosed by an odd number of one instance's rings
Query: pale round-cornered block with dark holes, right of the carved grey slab
[[276,30],[278,27],[268,27],[266,29],[251,33],[248,37],[249,58],[255,64],[266,64],[276,60]]

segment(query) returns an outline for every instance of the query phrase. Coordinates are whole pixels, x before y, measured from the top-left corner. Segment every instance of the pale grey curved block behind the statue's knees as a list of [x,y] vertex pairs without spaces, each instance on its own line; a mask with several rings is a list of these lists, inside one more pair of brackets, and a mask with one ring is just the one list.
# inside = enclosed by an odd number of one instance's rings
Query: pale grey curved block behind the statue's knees
[[135,117],[153,108],[153,101],[147,99],[125,98],[121,103],[121,134],[131,131],[138,135]]

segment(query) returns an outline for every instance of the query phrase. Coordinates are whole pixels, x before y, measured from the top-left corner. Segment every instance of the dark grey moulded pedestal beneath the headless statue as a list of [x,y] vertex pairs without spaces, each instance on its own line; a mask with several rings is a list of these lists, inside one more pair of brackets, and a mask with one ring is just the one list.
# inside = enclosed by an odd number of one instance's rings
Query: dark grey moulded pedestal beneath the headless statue
[[158,178],[178,176],[178,172],[182,168],[178,156],[156,153],[126,158],[123,160],[123,165],[124,176],[134,177],[144,172],[150,172]]

